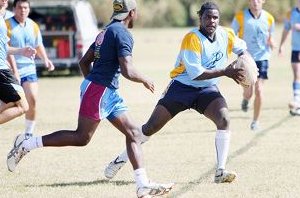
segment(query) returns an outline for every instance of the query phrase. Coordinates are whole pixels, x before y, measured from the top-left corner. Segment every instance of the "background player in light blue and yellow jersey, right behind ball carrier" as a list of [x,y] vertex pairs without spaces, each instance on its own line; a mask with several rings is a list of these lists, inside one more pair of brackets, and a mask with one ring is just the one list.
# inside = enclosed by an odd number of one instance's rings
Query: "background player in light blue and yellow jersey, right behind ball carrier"
[[241,108],[248,111],[249,100],[253,92],[254,112],[250,125],[251,130],[259,129],[259,116],[263,102],[263,85],[268,79],[269,59],[274,48],[273,33],[275,28],[274,17],[263,10],[264,0],[248,0],[249,8],[236,13],[232,28],[235,33],[247,43],[247,49],[258,67],[258,79],[255,86],[244,88]]

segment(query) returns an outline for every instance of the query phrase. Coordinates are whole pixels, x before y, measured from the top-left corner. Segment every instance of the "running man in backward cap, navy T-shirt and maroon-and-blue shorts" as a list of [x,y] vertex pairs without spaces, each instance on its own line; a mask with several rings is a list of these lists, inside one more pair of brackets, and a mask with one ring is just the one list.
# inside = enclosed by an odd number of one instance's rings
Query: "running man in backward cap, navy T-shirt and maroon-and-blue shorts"
[[[39,147],[85,146],[94,135],[98,125],[108,119],[126,136],[128,156],[134,169],[137,197],[163,195],[171,190],[171,184],[157,184],[147,178],[143,165],[140,129],[127,113],[127,106],[118,93],[119,76],[142,83],[151,92],[154,84],[140,74],[132,64],[133,38],[128,28],[137,19],[135,0],[114,0],[112,21],[98,34],[95,42],[79,62],[85,79],[81,84],[81,104],[76,130],[59,130],[48,135],[17,136],[7,156],[7,166],[14,171],[22,157]],[[92,70],[90,64],[94,62]]]

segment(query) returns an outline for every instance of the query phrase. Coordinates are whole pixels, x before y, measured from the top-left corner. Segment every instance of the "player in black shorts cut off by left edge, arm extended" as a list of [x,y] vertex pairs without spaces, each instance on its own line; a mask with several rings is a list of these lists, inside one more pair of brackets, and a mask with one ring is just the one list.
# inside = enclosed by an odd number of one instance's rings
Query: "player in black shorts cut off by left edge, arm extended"
[[[0,0],[0,9],[6,4],[7,0]],[[0,124],[21,116],[28,110],[24,91],[7,65],[7,54],[19,54],[33,59],[36,53],[31,47],[9,47],[6,35],[6,25],[3,17],[0,17]]]

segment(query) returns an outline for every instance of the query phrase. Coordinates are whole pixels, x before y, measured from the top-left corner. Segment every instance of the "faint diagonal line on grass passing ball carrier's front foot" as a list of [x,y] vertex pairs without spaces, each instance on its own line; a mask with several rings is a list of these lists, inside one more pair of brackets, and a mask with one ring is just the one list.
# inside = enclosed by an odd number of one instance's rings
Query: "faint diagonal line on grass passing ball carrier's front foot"
[[[266,134],[270,133],[273,129],[276,129],[276,128],[280,127],[280,125],[287,122],[291,118],[292,118],[292,116],[290,116],[290,115],[285,116],[282,119],[275,122],[274,124],[272,124],[271,126],[269,126],[268,128],[265,128],[265,129],[257,132],[256,135],[247,144],[245,144],[243,147],[241,147],[240,149],[233,152],[228,157],[227,162],[230,162],[231,160],[245,154],[252,147],[254,147],[256,144],[258,144],[259,140],[262,137],[264,137]],[[172,194],[172,196],[180,197],[180,196],[184,195],[185,193],[193,190],[197,185],[203,183],[203,181],[207,180],[207,178],[209,178],[209,177],[212,178],[214,174],[215,174],[215,167],[212,167],[207,172],[200,175],[200,177],[198,179],[195,179],[195,180],[190,181],[188,183],[181,183],[183,186],[181,188],[179,188],[177,191],[175,191],[175,192],[173,191],[174,193]],[[178,183],[178,184],[180,184],[180,183]]]

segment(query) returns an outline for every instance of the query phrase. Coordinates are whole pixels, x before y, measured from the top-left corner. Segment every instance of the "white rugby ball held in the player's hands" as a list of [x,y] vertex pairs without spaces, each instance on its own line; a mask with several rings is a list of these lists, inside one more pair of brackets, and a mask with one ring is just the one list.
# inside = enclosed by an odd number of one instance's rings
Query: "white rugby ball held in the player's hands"
[[257,81],[258,68],[250,54],[243,54],[238,57],[235,68],[243,69],[243,80],[239,81],[242,87],[248,88]]

